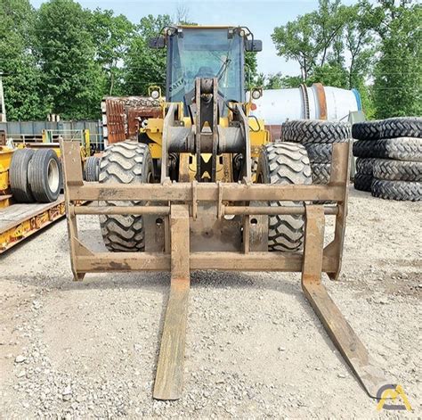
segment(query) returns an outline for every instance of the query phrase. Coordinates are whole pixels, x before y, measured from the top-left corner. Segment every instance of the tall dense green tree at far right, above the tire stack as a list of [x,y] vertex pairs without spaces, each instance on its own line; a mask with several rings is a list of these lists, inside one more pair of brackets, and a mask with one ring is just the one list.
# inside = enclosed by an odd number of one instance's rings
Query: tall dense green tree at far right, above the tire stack
[[[375,67],[377,118],[422,115],[422,54],[420,4],[383,2],[380,57]],[[379,10],[379,9],[378,9]]]

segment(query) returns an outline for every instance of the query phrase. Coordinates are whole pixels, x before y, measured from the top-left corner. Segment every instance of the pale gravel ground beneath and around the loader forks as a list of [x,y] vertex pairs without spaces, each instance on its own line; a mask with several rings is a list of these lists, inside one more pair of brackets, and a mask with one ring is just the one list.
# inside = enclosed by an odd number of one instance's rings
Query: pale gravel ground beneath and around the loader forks
[[[412,412],[377,412],[300,276],[267,272],[192,274],[184,396],[151,399],[169,276],[72,282],[61,221],[0,257],[0,418],[420,418],[421,209],[352,189],[342,281],[324,278]],[[80,227],[100,249],[97,219]]]

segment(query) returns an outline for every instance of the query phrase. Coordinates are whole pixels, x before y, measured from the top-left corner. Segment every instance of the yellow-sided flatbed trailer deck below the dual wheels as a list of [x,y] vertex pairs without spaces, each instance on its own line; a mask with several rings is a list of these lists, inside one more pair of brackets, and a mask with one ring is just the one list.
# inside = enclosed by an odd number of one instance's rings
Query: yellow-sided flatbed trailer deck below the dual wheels
[[12,204],[0,208],[0,254],[64,215],[62,194],[55,202]]

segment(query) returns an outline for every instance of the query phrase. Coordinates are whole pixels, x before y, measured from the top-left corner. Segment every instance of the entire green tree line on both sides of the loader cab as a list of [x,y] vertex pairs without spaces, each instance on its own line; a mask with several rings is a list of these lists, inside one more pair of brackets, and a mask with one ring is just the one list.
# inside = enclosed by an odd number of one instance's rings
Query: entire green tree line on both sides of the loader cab
[[[175,21],[187,22],[187,11]],[[0,0],[0,71],[8,119],[100,116],[104,95],[145,95],[165,85],[166,52],[148,39],[174,21],[168,14],[134,24],[110,10],[84,9],[73,0]],[[320,0],[315,12],[275,28],[278,54],[296,61],[296,77],[257,74],[248,54],[248,80],[280,88],[321,81],[360,90],[370,117],[420,115],[421,7],[407,0],[345,6]],[[256,34],[259,35],[259,34]]]

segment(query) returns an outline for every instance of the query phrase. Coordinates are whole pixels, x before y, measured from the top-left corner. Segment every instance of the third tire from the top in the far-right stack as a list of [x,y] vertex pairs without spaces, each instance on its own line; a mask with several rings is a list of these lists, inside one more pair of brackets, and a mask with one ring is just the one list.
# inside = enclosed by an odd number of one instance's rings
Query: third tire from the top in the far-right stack
[[422,181],[422,162],[376,159],[374,177],[391,181]]

